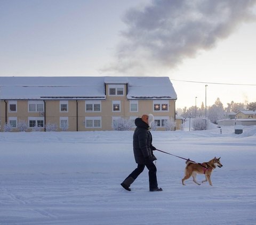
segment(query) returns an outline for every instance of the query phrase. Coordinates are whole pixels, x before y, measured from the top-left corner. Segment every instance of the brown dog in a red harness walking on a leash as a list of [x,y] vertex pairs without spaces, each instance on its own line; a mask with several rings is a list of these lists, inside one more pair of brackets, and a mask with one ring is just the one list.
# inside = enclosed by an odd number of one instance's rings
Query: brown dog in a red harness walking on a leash
[[209,184],[212,186],[212,181],[211,181],[211,173],[212,171],[218,166],[219,168],[222,167],[222,164],[220,163],[220,157],[217,159],[214,157],[214,159],[210,160],[209,162],[204,162],[204,163],[193,163],[189,160],[186,161],[186,168],[185,168],[185,177],[182,179],[182,185],[184,184],[184,181],[187,180],[188,178],[193,177],[193,181],[197,184],[198,182],[196,181],[196,174],[205,174],[205,180],[202,181],[206,182],[207,180],[209,181]]

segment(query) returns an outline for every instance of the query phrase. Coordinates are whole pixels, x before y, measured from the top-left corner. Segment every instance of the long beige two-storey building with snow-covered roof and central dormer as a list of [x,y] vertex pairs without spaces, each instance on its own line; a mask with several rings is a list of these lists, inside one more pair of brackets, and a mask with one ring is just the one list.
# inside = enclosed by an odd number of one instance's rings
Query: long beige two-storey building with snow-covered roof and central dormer
[[168,77],[0,77],[1,130],[113,130],[119,118],[155,116],[157,130],[175,121],[177,94]]

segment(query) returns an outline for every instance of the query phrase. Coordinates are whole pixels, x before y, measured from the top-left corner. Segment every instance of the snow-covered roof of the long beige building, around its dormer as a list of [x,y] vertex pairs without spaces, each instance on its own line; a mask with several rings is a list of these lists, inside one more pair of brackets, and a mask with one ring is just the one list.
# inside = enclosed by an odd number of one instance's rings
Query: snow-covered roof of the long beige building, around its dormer
[[127,84],[128,99],[177,99],[168,77],[0,77],[0,99],[106,99],[105,84]]

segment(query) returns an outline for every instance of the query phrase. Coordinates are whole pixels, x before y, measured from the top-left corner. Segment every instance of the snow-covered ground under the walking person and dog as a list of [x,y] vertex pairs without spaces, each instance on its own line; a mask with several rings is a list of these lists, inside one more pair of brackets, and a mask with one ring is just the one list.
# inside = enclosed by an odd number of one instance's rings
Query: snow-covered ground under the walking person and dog
[[124,190],[136,166],[132,131],[2,132],[0,224],[256,224],[256,126],[152,134],[175,155],[221,156],[213,186],[182,186],[185,160],[155,152],[163,191],[149,191],[147,169]]

